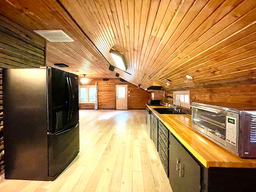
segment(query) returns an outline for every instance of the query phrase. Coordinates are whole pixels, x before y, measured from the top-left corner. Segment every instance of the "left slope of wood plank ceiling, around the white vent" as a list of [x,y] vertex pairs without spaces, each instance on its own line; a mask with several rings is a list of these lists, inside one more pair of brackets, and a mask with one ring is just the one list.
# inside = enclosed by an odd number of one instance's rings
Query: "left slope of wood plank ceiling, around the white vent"
[[[15,6],[1,1],[1,7],[5,7],[4,10],[1,9],[1,13],[30,31],[61,28],[75,40],[75,42],[48,42],[47,64],[49,66],[54,66],[54,63],[65,63],[70,66],[68,68],[70,72],[79,70],[81,72],[78,74],[90,72],[94,78],[116,78],[115,73],[108,70],[107,60],[93,47],[90,40],[56,1],[37,1],[36,4],[34,1],[13,1],[12,4]],[[15,15],[12,14],[13,9],[15,9]],[[22,19],[19,20],[19,18]]]

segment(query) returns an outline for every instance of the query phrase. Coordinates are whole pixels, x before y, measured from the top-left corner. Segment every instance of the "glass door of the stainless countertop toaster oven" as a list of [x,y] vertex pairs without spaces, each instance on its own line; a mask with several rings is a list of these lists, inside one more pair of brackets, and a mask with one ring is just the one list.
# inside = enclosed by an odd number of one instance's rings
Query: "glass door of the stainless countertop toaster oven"
[[192,106],[193,128],[225,146],[226,111]]

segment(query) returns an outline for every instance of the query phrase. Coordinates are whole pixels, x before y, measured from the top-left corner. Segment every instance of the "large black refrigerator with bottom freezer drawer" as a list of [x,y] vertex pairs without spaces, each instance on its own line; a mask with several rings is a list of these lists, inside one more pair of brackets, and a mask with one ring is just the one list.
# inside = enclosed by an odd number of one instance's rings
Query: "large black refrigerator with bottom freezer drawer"
[[78,76],[3,70],[5,178],[54,180],[79,152]]

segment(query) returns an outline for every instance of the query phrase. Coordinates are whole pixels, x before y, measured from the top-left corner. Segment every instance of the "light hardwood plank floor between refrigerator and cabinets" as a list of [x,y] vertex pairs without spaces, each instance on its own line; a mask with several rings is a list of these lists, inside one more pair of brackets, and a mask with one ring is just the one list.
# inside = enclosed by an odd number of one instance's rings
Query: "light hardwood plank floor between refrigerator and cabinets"
[[80,152],[56,180],[0,182],[0,192],[83,191],[172,191],[145,111],[80,110]]

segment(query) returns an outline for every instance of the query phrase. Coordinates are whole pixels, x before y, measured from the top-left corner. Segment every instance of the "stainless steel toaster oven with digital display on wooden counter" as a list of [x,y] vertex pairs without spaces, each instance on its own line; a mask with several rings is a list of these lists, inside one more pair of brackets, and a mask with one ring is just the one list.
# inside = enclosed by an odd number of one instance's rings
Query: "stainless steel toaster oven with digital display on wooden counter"
[[192,102],[193,128],[241,158],[256,158],[256,106]]

